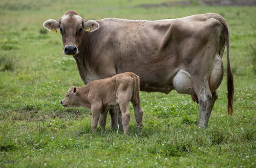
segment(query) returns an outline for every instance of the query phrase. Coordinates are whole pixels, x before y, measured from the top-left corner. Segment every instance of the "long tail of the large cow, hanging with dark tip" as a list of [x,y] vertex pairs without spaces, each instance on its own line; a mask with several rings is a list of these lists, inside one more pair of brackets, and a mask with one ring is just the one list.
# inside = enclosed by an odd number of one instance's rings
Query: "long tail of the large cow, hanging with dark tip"
[[227,112],[228,112],[228,115],[231,116],[233,114],[234,83],[233,83],[233,74],[232,74],[230,60],[229,60],[229,30],[228,30],[227,22],[222,16],[215,14],[213,18],[217,19],[222,23],[225,31],[225,38],[226,38],[226,45],[227,45],[227,99],[228,99]]

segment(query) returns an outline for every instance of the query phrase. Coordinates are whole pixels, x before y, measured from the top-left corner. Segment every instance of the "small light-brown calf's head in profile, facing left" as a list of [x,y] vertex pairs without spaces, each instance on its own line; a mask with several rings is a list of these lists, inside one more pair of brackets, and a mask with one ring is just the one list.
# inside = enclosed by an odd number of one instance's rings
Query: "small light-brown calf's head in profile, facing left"
[[60,104],[64,107],[79,107],[80,98],[77,94],[77,88],[71,87],[66,94],[65,98],[60,101]]

